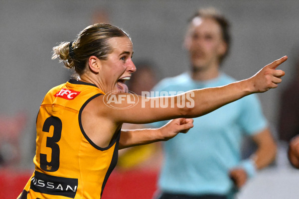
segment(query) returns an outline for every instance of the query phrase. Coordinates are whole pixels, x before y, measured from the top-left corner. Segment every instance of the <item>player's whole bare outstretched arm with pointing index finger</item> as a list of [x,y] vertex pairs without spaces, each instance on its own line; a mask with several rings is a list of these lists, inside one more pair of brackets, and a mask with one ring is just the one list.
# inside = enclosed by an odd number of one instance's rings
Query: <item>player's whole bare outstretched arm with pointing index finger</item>
[[[268,64],[258,73],[249,79],[235,82],[226,86],[207,88],[201,90],[192,90],[181,95],[160,98],[145,98],[130,94],[121,94],[126,100],[122,103],[114,103],[113,107],[101,106],[101,113],[107,112],[107,116],[117,123],[150,123],[154,121],[173,119],[177,117],[193,118],[207,114],[227,103],[253,93],[266,92],[269,89],[276,88],[281,83],[281,77],[285,75],[282,70],[276,68],[288,59],[287,56]],[[106,96],[105,96],[106,97]],[[108,99],[100,98],[99,101]],[[129,100],[128,100],[129,99]],[[135,106],[126,108],[132,104],[128,103],[138,99]],[[185,105],[181,107],[181,99],[191,99],[193,106]],[[156,106],[152,100],[167,101],[167,107]],[[136,101],[136,100],[135,100]],[[185,101],[186,102],[186,101]],[[158,102],[158,105],[161,104]],[[171,106],[170,104],[173,104]],[[189,104],[190,105],[190,104]]]

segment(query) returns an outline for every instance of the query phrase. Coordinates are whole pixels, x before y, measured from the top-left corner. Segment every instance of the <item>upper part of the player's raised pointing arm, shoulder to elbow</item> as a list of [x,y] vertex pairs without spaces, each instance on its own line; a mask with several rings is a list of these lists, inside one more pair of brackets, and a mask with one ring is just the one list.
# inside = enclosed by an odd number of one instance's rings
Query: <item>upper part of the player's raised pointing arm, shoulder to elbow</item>
[[[154,121],[178,118],[184,108],[178,108],[176,97],[145,98],[132,94],[118,94],[113,99],[107,96],[96,99],[102,115],[116,123],[151,123]],[[163,100],[163,102],[161,102]],[[164,105],[163,105],[164,103]]]

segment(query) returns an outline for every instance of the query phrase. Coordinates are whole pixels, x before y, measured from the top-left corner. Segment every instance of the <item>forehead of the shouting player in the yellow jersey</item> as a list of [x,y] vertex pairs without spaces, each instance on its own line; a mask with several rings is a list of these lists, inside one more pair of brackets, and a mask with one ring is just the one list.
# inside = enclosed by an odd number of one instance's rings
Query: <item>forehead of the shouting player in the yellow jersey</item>
[[113,37],[109,39],[113,52],[133,52],[133,43],[129,37]]

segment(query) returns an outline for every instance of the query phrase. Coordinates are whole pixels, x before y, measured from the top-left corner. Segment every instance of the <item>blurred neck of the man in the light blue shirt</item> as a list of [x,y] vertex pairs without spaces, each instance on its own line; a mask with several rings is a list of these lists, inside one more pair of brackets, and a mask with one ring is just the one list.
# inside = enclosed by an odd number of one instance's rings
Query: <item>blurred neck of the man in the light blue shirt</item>
[[192,67],[191,78],[195,81],[207,81],[217,78],[219,75],[218,66],[208,69],[198,69]]

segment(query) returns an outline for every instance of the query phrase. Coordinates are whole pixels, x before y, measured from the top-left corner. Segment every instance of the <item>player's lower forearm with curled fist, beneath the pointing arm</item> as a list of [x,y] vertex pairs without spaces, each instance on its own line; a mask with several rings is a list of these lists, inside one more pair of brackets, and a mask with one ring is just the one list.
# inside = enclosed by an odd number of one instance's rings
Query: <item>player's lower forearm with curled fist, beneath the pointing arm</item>
[[160,128],[122,130],[119,149],[150,144],[157,141],[167,141],[178,133],[186,133],[193,127],[193,119],[172,119]]

